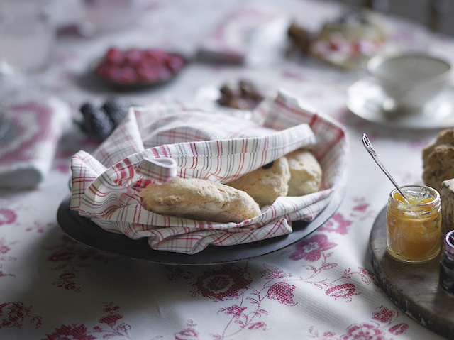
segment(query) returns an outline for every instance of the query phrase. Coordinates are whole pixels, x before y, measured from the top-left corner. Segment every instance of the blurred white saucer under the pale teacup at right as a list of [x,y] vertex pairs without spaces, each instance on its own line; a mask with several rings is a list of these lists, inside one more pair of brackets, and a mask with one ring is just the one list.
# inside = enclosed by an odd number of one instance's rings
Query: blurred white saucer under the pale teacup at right
[[348,88],[347,106],[356,116],[389,128],[435,129],[454,126],[454,87],[448,86],[418,111],[388,112],[387,99],[380,85],[372,78],[358,80]]

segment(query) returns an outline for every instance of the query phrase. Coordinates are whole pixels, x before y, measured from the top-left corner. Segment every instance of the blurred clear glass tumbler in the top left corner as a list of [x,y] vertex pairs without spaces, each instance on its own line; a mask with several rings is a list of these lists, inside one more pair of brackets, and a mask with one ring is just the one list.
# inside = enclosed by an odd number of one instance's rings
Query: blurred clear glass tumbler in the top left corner
[[45,70],[55,43],[49,0],[0,2],[0,73],[27,75]]

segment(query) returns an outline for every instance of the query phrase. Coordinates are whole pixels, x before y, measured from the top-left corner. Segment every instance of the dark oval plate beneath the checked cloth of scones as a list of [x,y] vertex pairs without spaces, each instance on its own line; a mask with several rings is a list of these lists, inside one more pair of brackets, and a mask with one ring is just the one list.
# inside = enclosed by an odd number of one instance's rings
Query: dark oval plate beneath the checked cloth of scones
[[[344,176],[345,177],[345,176]],[[292,224],[292,234],[268,238],[253,243],[238,244],[236,246],[208,246],[203,251],[188,255],[170,251],[155,251],[148,245],[147,239],[133,240],[122,234],[113,234],[101,229],[89,219],[70,209],[70,197],[60,204],[57,212],[57,221],[62,231],[75,241],[87,246],[106,251],[115,255],[126,256],[138,260],[169,265],[211,265],[245,261],[256,258],[279,249],[290,246],[301,238],[308,236],[319,226],[324,224],[338,209],[345,192],[345,179],[333,192],[333,197],[325,209],[313,221],[295,221]]]

